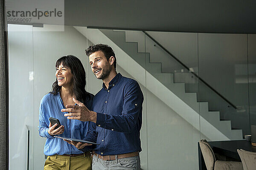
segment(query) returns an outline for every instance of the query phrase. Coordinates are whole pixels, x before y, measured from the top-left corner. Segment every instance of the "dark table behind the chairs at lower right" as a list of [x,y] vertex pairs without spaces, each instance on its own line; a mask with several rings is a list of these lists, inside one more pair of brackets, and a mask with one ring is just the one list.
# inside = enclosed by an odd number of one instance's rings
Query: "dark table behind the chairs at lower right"
[[[216,141],[209,142],[214,153],[218,153],[224,156],[229,156],[230,158],[241,161],[237,149],[243,149],[250,152],[256,152],[256,147],[251,145],[251,142],[246,140],[235,140],[235,141]],[[199,160],[199,170],[207,170],[204,158],[201,153],[201,149],[198,142],[198,160]]]

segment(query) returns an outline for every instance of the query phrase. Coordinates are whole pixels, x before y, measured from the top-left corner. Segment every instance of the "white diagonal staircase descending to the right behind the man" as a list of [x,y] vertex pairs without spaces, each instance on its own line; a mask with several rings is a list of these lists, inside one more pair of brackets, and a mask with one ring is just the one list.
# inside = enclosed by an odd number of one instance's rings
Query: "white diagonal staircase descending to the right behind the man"
[[[116,53],[118,65],[130,70],[129,73],[138,82],[210,140],[242,139],[241,129],[231,129],[231,121],[220,120],[219,111],[209,111],[208,102],[198,102],[196,93],[186,93],[185,83],[174,83],[173,73],[163,73],[161,62],[151,62],[150,53],[139,52],[138,42],[126,42],[125,31],[75,28],[95,44],[111,45]],[[138,37],[145,36],[141,31],[136,32]],[[131,68],[133,65],[134,67]],[[146,72],[147,82],[145,77],[137,74],[137,71]]]

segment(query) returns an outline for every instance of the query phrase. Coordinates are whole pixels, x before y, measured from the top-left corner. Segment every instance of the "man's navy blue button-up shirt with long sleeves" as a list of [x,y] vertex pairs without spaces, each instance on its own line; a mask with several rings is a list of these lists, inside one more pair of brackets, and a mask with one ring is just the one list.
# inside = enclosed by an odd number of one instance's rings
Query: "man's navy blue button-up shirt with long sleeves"
[[87,140],[96,141],[94,151],[102,156],[141,151],[143,93],[134,79],[117,74],[93,98],[97,112],[96,129]]

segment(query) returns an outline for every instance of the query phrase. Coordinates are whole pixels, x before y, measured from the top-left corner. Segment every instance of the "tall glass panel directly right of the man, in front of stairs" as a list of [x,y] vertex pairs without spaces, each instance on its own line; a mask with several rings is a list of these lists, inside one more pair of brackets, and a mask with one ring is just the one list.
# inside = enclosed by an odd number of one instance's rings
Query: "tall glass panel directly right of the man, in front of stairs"
[[196,170],[199,103],[196,93],[186,92],[197,92],[198,81],[172,55],[197,73],[197,34],[146,33],[148,167]]

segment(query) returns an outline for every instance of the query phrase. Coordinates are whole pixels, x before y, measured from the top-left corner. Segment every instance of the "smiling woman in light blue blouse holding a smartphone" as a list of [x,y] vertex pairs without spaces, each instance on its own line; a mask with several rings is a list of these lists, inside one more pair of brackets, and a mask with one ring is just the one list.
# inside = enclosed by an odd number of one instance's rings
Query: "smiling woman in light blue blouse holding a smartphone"
[[[83,153],[71,144],[54,135],[67,138],[84,139],[89,122],[70,120],[64,117],[61,109],[66,105],[75,105],[73,98],[81,101],[87,108],[91,108],[93,95],[85,91],[86,78],[81,61],[67,55],[57,60],[56,81],[52,84],[52,92],[46,94],[40,104],[38,131],[41,137],[46,137],[44,154],[47,160],[44,170],[91,170],[92,157],[90,146],[88,152]],[[51,125],[49,117],[59,119],[61,126]]]

